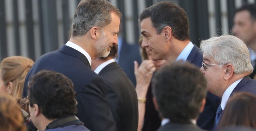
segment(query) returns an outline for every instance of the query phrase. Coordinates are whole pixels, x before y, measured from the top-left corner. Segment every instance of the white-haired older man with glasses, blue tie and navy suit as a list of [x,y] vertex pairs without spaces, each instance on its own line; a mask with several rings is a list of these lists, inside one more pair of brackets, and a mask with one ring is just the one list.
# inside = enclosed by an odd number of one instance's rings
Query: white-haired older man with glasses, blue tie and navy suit
[[214,130],[225,109],[228,98],[234,92],[250,92],[256,95],[256,80],[248,75],[253,72],[246,44],[232,35],[223,35],[203,40],[201,71],[208,81],[209,92],[221,97],[216,112]]

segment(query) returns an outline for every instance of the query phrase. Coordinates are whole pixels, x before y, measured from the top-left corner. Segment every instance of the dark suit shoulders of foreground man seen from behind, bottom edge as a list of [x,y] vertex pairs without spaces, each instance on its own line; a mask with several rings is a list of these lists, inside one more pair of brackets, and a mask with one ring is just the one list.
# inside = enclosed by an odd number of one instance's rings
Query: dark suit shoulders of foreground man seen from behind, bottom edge
[[157,131],[204,131],[195,124],[176,124],[166,123],[161,126]]

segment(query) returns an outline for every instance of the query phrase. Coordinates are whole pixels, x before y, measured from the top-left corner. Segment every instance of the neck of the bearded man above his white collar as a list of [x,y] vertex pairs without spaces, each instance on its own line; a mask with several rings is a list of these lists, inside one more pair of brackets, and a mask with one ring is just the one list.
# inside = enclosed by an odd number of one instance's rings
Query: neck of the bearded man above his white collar
[[69,41],[73,42],[74,44],[77,44],[82,49],[84,49],[90,55],[90,57],[92,59],[95,57],[96,48],[95,48],[95,46],[93,46],[94,45],[93,43],[95,43],[95,42],[92,39],[90,39],[87,36],[87,34],[85,34],[83,36],[79,36],[79,37],[71,36]]

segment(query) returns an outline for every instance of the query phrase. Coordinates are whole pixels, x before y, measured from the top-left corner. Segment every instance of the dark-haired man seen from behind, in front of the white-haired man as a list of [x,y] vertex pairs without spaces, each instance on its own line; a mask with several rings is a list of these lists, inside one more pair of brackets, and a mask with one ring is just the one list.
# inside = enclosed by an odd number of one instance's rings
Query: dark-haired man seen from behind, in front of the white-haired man
[[163,119],[158,131],[201,131],[195,120],[206,101],[207,82],[202,72],[178,61],[158,71],[153,83],[154,104]]

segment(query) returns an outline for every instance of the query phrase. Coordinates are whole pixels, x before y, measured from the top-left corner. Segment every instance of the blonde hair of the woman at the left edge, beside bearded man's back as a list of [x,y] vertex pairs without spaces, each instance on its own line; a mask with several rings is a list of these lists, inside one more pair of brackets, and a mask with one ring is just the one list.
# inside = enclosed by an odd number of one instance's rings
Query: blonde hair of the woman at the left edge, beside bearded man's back
[[22,56],[12,56],[2,60],[1,76],[5,86],[8,82],[13,83],[11,96],[15,99],[21,98],[25,77],[33,64],[33,60]]

